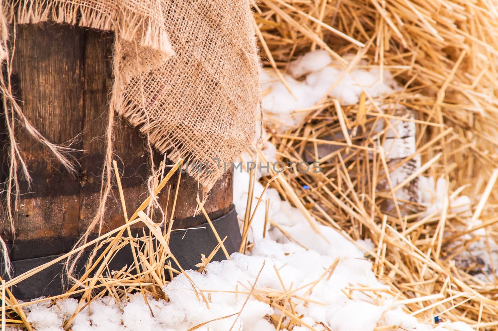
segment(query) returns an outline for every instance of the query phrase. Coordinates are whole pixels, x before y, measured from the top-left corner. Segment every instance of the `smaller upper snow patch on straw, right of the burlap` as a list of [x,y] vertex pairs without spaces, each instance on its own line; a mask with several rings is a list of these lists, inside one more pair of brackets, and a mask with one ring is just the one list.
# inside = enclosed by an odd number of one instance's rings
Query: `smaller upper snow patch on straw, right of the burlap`
[[[343,106],[357,104],[363,91],[376,98],[400,89],[389,71],[384,70],[382,75],[379,69],[353,69],[346,73],[324,50],[307,53],[291,62],[288,71],[292,76],[283,76],[293,95],[272,69],[261,71],[262,108],[280,123],[279,131],[297,125],[305,112],[295,110],[315,106],[333,85],[336,86],[328,95]],[[304,80],[298,80],[303,77]]]

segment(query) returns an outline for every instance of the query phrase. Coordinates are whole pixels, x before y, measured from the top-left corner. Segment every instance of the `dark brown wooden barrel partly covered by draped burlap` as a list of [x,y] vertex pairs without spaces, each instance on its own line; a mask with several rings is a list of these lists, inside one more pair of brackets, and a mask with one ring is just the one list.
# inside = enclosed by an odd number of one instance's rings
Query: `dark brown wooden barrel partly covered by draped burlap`
[[[5,219],[2,221],[2,237],[10,248],[14,274],[29,267],[21,266],[17,261],[37,258],[46,261],[50,256],[67,252],[95,216],[99,206],[101,169],[106,148],[104,135],[113,80],[113,42],[114,35],[111,32],[67,24],[16,26],[15,48],[11,48],[14,51],[11,81],[25,116],[53,143],[61,144],[77,137],[73,147],[83,152],[75,154],[80,165],[78,176],[72,176],[49,150],[34,142],[17,125],[16,139],[32,183],[31,187],[25,181],[21,185],[19,210],[14,217],[15,235],[10,232],[8,222]],[[120,161],[118,164],[122,173],[124,197],[130,215],[147,197],[144,182],[150,174],[147,165],[149,153],[138,128],[131,127],[118,116],[116,118],[114,151],[116,159]],[[1,131],[6,132],[5,129]],[[2,137],[2,143],[5,140]],[[5,151],[6,148],[4,146],[0,150]],[[154,152],[153,157],[156,165],[163,159],[158,152]],[[3,164],[7,162],[4,153]],[[5,168],[1,182],[6,180]],[[167,218],[170,217],[177,180],[177,175],[171,178],[171,189],[166,186],[160,195],[161,204],[164,208],[167,206]],[[173,228],[189,228],[206,222],[202,215],[194,215],[198,189],[193,178],[181,175]],[[108,206],[104,231],[124,224],[117,190]],[[228,215],[232,207],[232,177],[226,174],[209,193],[204,208],[210,219],[216,220]],[[234,221],[230,224],[234,224]],[[227,231],[239,232],[238,226],[232,226]],[[230,250],[234,251],[240,239],[237,233],[232,234],[235,241]],[[231,246],[230,243],[226,245]],[[212,248],[206,248],[207,254]],[[195,263],[198,262],[200,254]],[[36,286],[33,293],[24,292],[22,297],[53,294],[39,292]]]

